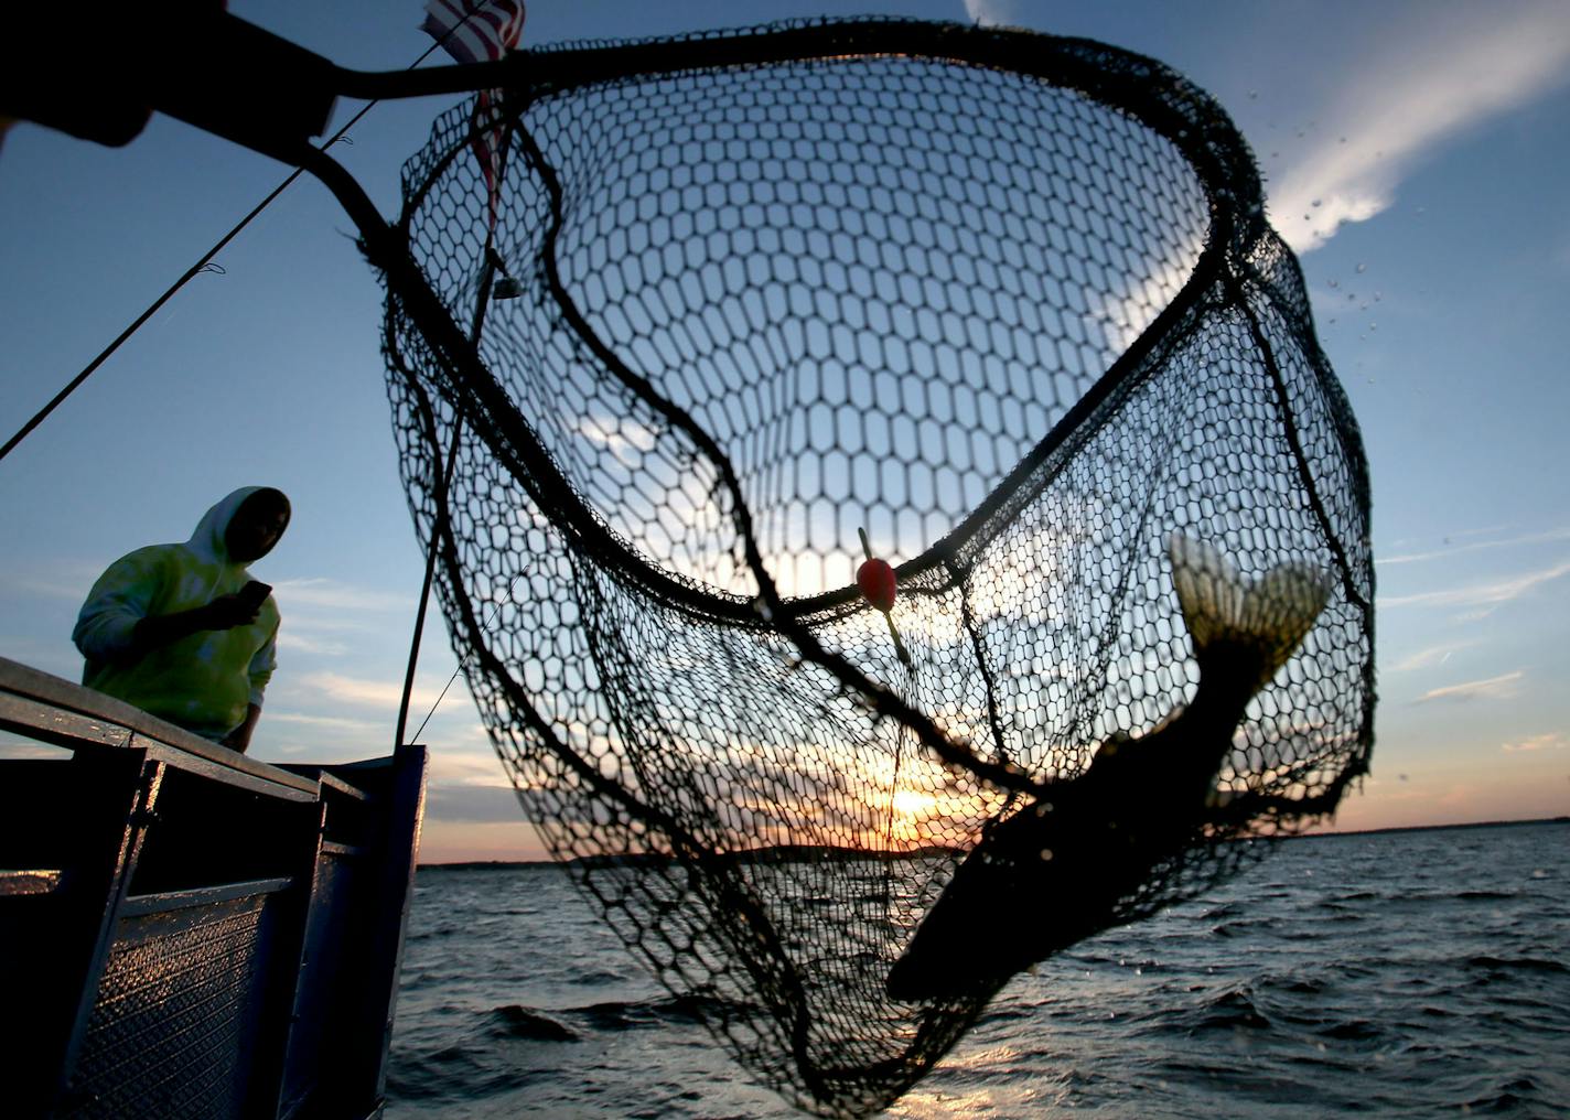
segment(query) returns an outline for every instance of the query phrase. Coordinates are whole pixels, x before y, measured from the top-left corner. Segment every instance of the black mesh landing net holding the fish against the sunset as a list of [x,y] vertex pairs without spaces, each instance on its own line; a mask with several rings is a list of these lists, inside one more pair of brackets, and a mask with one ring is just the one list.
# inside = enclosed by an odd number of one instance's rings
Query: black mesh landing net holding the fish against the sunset
[[1364,771],[1356,426],[1245,145],[1154,61],[881,20],[526,60],[367,239],[455,650],[620,938],[802,1107],[867,1114],[1008,979],[889,994],[967,855],[1193,697],[1174,534],[1328,603],[1080,930]]

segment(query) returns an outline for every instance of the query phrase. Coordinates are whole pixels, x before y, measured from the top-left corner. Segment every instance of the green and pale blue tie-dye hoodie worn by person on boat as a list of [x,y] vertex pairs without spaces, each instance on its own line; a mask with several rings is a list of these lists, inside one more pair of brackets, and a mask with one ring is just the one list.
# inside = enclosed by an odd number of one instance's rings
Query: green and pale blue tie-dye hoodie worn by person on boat
[[132,630],[149,616],[174,614],[239,591],[251,578],[229,559],[225,531],[250,495],[242,487],[207,511],[182,545],[148,545],[115,561],[82,605],[71,639],[86,658],[82,683],[206,738],[221,740],[262,704],[276,668],[278,606],[262,603],[256,622],[199,630],[132,653]]

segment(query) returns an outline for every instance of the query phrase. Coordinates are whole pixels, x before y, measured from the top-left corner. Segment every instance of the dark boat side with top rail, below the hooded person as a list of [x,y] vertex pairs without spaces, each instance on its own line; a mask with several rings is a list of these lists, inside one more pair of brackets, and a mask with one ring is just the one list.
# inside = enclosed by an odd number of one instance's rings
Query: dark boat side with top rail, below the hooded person
[[278,767],[0,658],[19,1117],[375,1115],[425,751]]

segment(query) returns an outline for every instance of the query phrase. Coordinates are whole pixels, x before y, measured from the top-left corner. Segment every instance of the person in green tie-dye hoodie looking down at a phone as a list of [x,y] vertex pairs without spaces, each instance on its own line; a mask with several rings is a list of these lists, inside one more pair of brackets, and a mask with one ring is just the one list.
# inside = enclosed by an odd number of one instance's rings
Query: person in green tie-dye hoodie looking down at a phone
[[289,500],[240,487],[179,545],[148,545],[115,561],[88,594],[71,639],[82,683],[245,751],[276,666],[278,606],[251,583],[289,526]]

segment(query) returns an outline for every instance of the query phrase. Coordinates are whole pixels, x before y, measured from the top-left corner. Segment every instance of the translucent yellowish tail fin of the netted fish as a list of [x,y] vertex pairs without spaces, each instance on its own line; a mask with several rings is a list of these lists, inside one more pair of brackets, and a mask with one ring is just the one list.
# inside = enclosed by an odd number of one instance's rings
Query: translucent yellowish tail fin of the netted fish
[[1247,580],[1214,545],[1174,533],[1167,548],[1195,658],[1243,647],[1259,658],[1256,686],[1287,663],[1330,602],[1330,576],[1313,564],[1289,561]]

